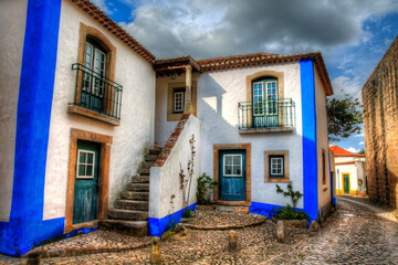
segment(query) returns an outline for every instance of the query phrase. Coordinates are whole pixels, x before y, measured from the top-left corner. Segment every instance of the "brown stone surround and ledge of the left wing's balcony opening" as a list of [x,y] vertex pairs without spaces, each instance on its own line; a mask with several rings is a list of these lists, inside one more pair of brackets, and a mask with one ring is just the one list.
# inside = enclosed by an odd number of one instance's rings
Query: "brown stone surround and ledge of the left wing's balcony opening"
[[[81,22],[80,28],[80,39],[78,39],[78,49],[77,49],[77,63],[84,65],[84,50],[87,36],[97,41],[102,47],[106,51],[106,66],[105,66],[105,76],[108,80],[115,80],[115,65],[116,65],[116,47],[112,44],[112,42],[97,29],[93,26],[88,26]],[[77,80],[77,95],[76,95],[76,104],[77,105],[67,105],[67,113],[82,115],[88,118],[97,119],[114,126],[121,125],[121,120],[109,117],[104,114],[98,114],[94,110],[87,109],[85,107],[78,106],[80,104],[80,95],[81,95],[81,83],[82,80]]]

